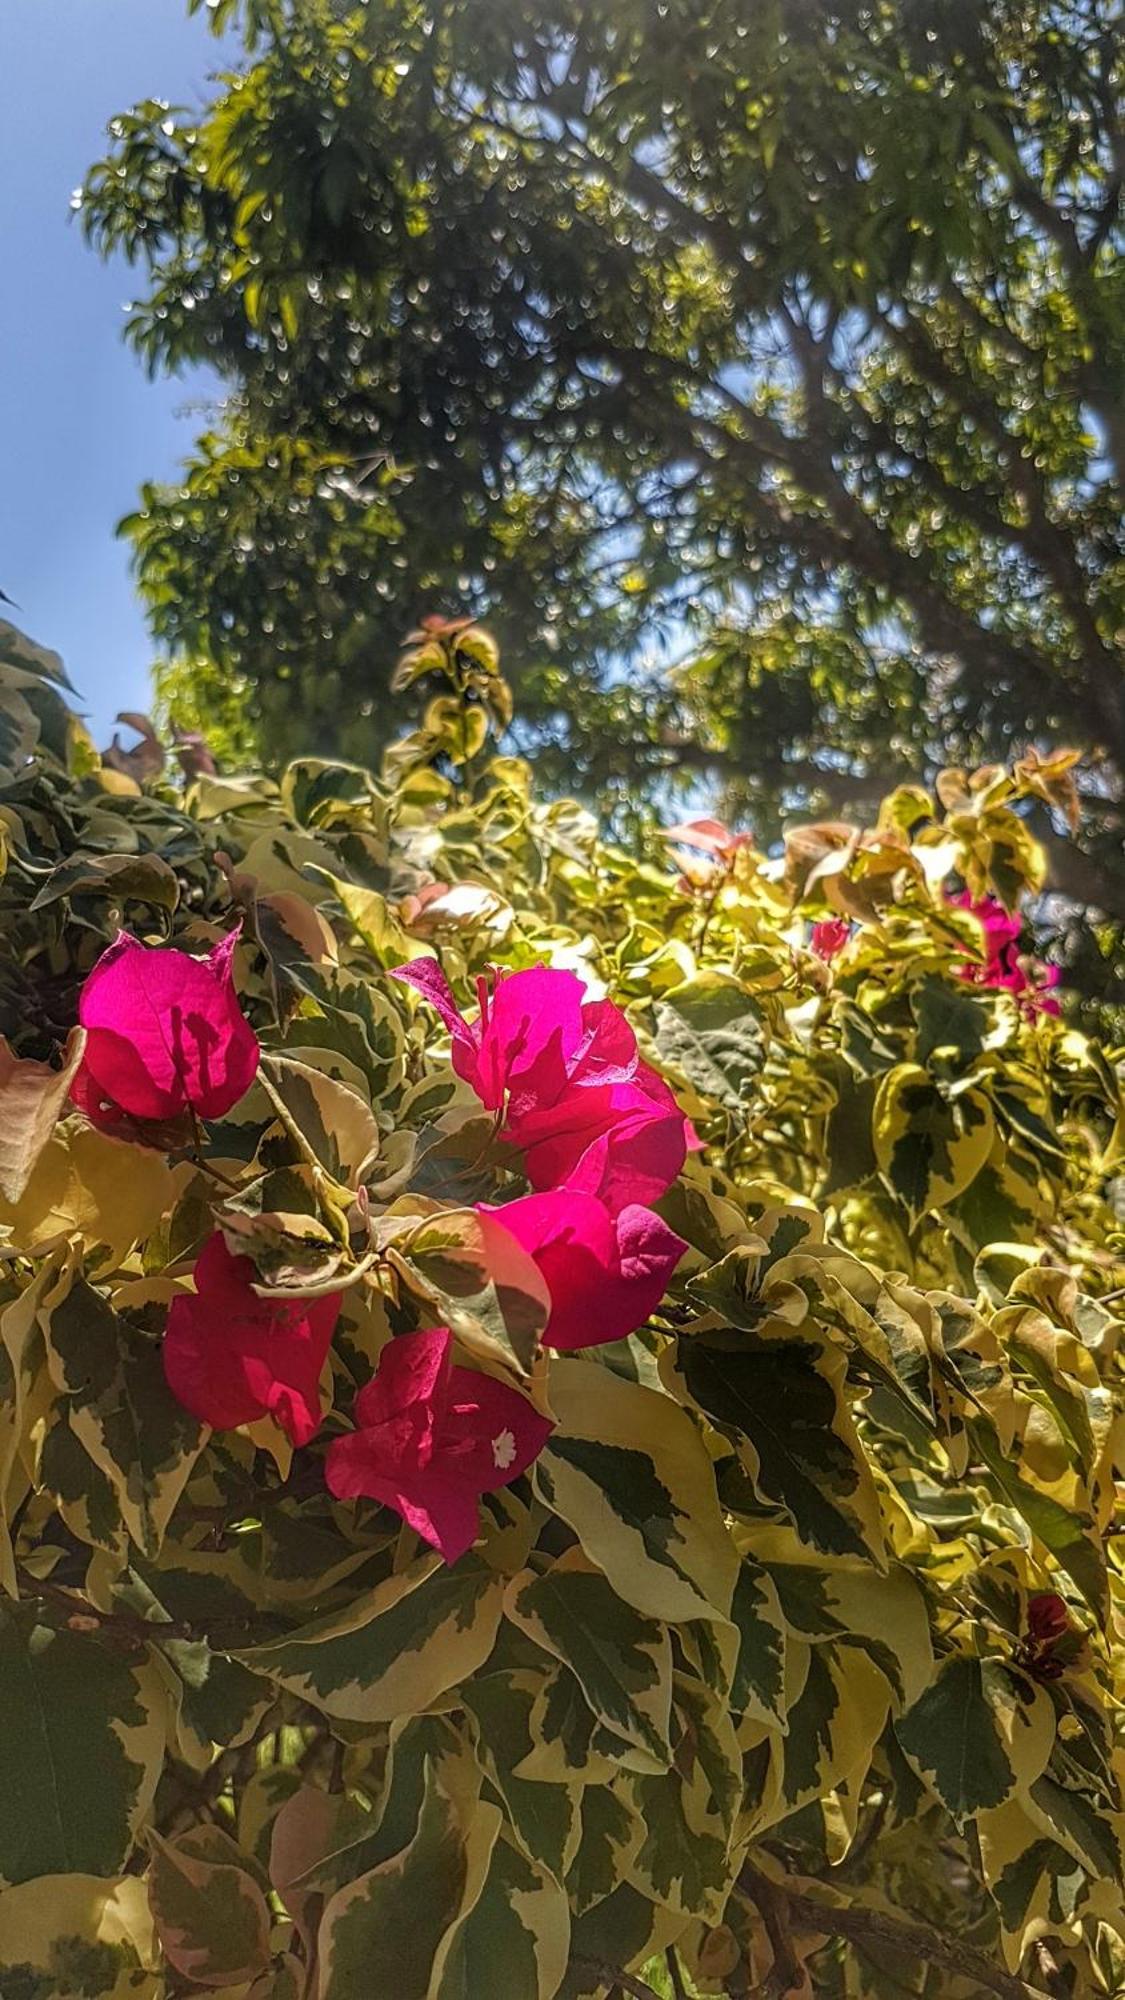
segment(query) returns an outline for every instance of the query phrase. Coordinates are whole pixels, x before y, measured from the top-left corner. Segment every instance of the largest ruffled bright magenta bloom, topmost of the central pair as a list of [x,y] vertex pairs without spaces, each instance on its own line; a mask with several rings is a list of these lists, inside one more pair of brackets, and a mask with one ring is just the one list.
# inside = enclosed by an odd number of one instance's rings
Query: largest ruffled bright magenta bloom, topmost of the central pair
[[609,1208],[665,1194],[695,1134],[613,1000],[587,1000],[573,972],[534,966],[480,978],[480,1016],[466,1022],[434,958],[394,978],[438,1010],[456,1074],[502,1120],[532,1188],[567,1180]]

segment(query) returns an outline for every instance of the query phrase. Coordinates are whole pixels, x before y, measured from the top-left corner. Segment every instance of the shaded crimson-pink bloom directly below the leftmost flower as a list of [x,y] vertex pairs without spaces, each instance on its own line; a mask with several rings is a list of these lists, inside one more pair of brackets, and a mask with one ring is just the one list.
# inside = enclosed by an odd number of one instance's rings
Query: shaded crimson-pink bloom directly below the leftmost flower
[[340,1316],[340,1294],[260,1298],[248,1256],[220,1234],[202,1246],[194,1292],[168,1308],[164,1378],[176,1402],[212,1430],[272,1416],[290,1444],[320,1426],[320,1370]]

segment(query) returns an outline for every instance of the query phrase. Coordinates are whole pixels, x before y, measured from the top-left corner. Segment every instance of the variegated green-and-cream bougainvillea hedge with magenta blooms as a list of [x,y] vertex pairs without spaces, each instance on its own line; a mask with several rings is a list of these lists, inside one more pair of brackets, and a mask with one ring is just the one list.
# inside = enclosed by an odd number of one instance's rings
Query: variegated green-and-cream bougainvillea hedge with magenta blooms
[[4,2000],[1125,1992],[1069,758],[639,860],[472,626],[378,776],[0,662]]

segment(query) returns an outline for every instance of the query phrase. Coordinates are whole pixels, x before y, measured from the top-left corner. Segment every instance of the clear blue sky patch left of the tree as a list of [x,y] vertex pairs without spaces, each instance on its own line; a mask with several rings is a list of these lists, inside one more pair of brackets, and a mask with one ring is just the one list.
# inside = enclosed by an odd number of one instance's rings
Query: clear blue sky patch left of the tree
[[184,0],[0,0],[0,588],[62,652],[98,742],[148,704],[152,658],[114,524],[186,454],[214,384],[146,378],[122,340],[140,280],[86,248],[70,194],[114,112],[196,104],[220,60]]

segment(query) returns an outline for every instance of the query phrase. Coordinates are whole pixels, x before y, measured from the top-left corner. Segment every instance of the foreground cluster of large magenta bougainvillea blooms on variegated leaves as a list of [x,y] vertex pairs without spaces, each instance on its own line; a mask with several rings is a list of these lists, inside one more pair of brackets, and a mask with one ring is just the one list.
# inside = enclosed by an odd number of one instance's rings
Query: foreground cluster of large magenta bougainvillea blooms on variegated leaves
[[[86,1052],[74,1102],[104,1130],[160,1144],[176,1120],[220,1118],[250,1088],[258,1040],[238,1006],[232,932],[208,958],[120,936],[78,1006]],[[502,1144],[522,1156],[532,1194],[486,1208],[534,1262],[550,1296],[542,1344],[577,1350],[635,1332],[659,1306],[685,1242],[649,1206],[697,1144],[673,1092],[641,1060],[609,1000],[573,972],[534,968],[478,982],[466,1022],[434,960],[398,966],[438,1010],[452,1064]],[[292,1446],[320,1428],[320,1376],[340,1294],[264,1296],[254,1262],[222,1232],[172,1300],[164,1374],[200,1422],[232,1430],[270,1418]],[[356,1428],[328,1446],[338,1498],[368,1496],[446,1562],[476,1538],[478,1500],[510,1484],[550,1436],[518,1390],[452,1362],[448,1328],[392,1338],[354,1404]]]

